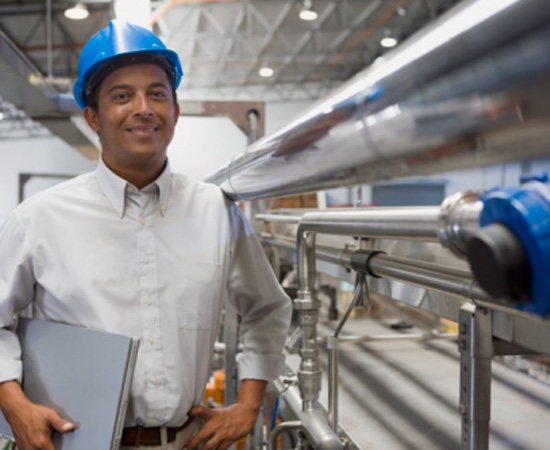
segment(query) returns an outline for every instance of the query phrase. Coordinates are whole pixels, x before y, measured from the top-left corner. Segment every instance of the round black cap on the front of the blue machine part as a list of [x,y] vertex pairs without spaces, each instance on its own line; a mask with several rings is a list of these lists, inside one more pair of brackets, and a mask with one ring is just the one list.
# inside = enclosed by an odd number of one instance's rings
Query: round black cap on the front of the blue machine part
[[531,267],[521,241],[509,228],[492,224],[468,242],[475,279],[492,297],[529,300]]

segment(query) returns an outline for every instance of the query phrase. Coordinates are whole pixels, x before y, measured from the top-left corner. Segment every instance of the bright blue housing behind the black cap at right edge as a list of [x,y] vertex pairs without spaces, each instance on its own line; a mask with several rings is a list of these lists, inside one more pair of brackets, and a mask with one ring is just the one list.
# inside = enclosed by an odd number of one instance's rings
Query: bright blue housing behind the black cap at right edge
[[517,188],[480,195],[480,225],[500,223],[520,240],[531,265],[531,303],[518,309],[546,317],[550,312],[550,182],[548,174],[525,176]]

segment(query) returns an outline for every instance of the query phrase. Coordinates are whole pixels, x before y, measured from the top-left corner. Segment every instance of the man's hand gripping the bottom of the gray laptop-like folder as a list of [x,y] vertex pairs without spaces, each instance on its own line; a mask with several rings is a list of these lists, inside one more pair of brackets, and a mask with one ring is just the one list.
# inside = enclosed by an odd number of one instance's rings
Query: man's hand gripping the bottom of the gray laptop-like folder
[[32,403],[16,381],[0,384],[2,411],[19,450],[55,450],[52,433],[67,433],[74,425],[50,408]]

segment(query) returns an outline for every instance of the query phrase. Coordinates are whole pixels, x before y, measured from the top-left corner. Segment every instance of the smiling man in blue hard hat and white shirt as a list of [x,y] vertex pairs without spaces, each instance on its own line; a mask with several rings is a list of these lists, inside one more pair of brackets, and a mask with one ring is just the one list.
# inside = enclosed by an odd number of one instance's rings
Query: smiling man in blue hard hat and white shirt
[[[92,37],[75,98],[100,136],[98,168],[27,200],[2,227],[0,407],[21,450],[53,449],[52,431],[75,428],[21,391],[14,315],[28,305],[141,337],[123,449],[228,448],[281,369],[291,306],[250,225],[217,187],[170,172],[180,78],[177,55],[148,30],[112,21]],[[208,410],[224,301],[242,317],[241,385],[235,404]]]

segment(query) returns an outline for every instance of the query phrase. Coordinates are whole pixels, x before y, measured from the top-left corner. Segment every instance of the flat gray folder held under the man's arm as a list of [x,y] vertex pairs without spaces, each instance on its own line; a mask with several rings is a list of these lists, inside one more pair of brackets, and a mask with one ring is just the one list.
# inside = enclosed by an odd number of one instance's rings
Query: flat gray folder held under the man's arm
[[[75,423],[54,433],[56,450],[117,450],[139,340],[129,336],[19,319],[23,391]],[[0,412],[0,434],[13,438]]]

